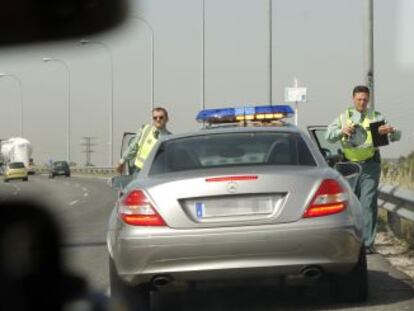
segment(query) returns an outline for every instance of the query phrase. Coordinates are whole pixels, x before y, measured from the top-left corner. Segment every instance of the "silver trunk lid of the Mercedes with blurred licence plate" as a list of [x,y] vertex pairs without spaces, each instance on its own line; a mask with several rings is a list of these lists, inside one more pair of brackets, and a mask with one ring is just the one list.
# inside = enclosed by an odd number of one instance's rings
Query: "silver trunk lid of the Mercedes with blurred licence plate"
[[168,174],[145,191],[173,228],[245,226],[297,221],[326,170],[269,166]]

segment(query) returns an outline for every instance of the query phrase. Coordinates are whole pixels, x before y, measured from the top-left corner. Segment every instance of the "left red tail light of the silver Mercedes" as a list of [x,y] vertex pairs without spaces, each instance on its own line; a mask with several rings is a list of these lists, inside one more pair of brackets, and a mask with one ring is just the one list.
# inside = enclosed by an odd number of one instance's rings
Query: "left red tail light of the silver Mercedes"
[[147,196],[141,190],[133,190],[119,203],[121,219],[132,226],[166,226]]

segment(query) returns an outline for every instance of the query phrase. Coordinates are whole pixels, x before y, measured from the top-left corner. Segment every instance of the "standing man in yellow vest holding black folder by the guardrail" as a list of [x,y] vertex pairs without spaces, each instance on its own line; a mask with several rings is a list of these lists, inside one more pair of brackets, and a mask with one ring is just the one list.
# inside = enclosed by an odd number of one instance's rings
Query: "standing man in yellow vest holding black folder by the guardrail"
[[369,95],[369,88],[356,86],[352,92],[353,107],[347,108],[328,126],[325,138],[332,143],[340,141],[345,160],[358,163],[362,168],[355,193],[363,209],[365,248],[367,253],[373,253],[381,159],[379,149],[373,145],[369,125],[385,121],[374,135],[388,135],[392,142],[400,140],[401,132],[391,126],[379,112],[368,108]]

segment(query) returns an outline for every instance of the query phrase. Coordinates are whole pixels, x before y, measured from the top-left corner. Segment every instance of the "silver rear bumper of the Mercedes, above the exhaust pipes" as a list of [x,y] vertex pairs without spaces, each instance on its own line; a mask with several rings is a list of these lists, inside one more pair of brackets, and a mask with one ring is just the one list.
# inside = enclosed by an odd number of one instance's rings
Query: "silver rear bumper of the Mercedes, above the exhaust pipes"
[[149,282],[157,275],[177,281],[288,276],[308,266],[347,273],[358,261],[362,245],[360,232],[351,225],[139,228],[133,233],[108,232],[117,271],[131,285]]

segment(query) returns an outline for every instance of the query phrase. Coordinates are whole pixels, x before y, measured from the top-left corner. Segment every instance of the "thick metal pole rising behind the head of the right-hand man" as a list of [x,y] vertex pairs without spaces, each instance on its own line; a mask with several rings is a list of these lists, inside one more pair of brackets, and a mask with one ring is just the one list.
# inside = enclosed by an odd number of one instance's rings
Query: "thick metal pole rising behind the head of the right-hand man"
[[367,40],[366,40],[366,56],[367,56],[367,72],[366,84],[371,90],[371,108],[375,109],[374,96],[374,0],[366,0],[367,14]]

